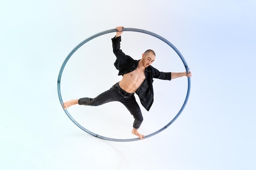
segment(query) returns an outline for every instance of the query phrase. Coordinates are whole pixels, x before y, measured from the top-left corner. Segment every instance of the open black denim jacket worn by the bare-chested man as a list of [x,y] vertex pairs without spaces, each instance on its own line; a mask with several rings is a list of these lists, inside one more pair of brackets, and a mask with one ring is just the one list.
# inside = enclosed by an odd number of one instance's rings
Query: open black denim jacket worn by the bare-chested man
[[[126,55],[120,49],[121,37],[114,37],[111,40],[113,52],[117,57],[114,65],[119,71],[118,75],[124,75],[137,69],[139,60],[132,59],[132,57]],[[171,72],[160,72],[153,66],[148,66],[145,70],[145,76],[146,79],[141,84],[141,86],[139,86],[135,93],[139,96],[142,106],[146,108],[146,110],[149,110],[154,101],[153,78],[171,80]]]

